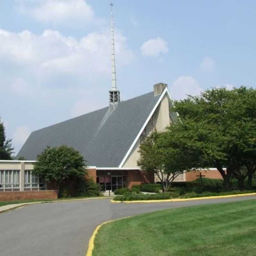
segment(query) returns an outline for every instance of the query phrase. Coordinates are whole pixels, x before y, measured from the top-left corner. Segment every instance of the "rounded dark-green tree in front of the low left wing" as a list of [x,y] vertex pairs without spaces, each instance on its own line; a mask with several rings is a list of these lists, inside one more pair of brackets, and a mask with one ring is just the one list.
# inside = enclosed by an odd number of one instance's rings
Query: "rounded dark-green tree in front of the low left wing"
[[72,147],[66,145],[47,147],[37,156],[33,173],[45,181],[56,182],[60,192],[60,184],[68,178],[83,177],[86,174],[84,157]]

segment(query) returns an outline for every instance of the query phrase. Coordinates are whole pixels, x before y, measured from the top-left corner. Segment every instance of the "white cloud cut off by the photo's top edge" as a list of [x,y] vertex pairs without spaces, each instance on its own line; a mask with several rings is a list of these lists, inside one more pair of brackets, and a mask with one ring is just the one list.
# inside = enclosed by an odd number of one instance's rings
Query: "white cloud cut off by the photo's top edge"
[[85,0],[16,0],[16,9],[41,22],[89,22],[94,17]]

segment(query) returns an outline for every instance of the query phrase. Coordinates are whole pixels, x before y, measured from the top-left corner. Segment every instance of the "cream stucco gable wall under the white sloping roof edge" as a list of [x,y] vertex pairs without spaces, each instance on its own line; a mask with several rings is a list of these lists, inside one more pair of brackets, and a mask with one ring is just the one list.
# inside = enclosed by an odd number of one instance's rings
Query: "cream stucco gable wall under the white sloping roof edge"
[[[163,131],[166,126],[170,125],[169,99],[168,99],[167,93],[165,93],[163,99],[159,103],[159,106],[156,108],[154,115],[156,116],[157,131]],[[130,155],[127,157],[126,161],[124,162],[123,167],[125,168],[138,167],[137,160],[140,158],[140,153],[138,152],[139,146],[140,146],[140,139],[137,140]]]

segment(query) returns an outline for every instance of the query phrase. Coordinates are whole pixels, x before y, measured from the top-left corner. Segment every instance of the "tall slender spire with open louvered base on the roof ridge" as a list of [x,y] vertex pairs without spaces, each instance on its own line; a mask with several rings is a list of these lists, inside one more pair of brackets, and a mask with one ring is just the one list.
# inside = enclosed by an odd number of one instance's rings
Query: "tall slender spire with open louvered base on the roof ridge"
[[109,112],[120,102],[120,92],[116,88],[116,61],[115,61],[115,40],[113,22],[113,4],[111,6],[111,90],[109,90]]

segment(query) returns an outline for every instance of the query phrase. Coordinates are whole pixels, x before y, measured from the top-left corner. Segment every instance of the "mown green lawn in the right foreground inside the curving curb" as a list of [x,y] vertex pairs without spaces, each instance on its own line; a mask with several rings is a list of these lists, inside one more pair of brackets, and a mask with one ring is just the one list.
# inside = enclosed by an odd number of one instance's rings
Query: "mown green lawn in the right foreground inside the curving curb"
[[103,225],[93,256],[255,256],[256,200],[138,215]]

